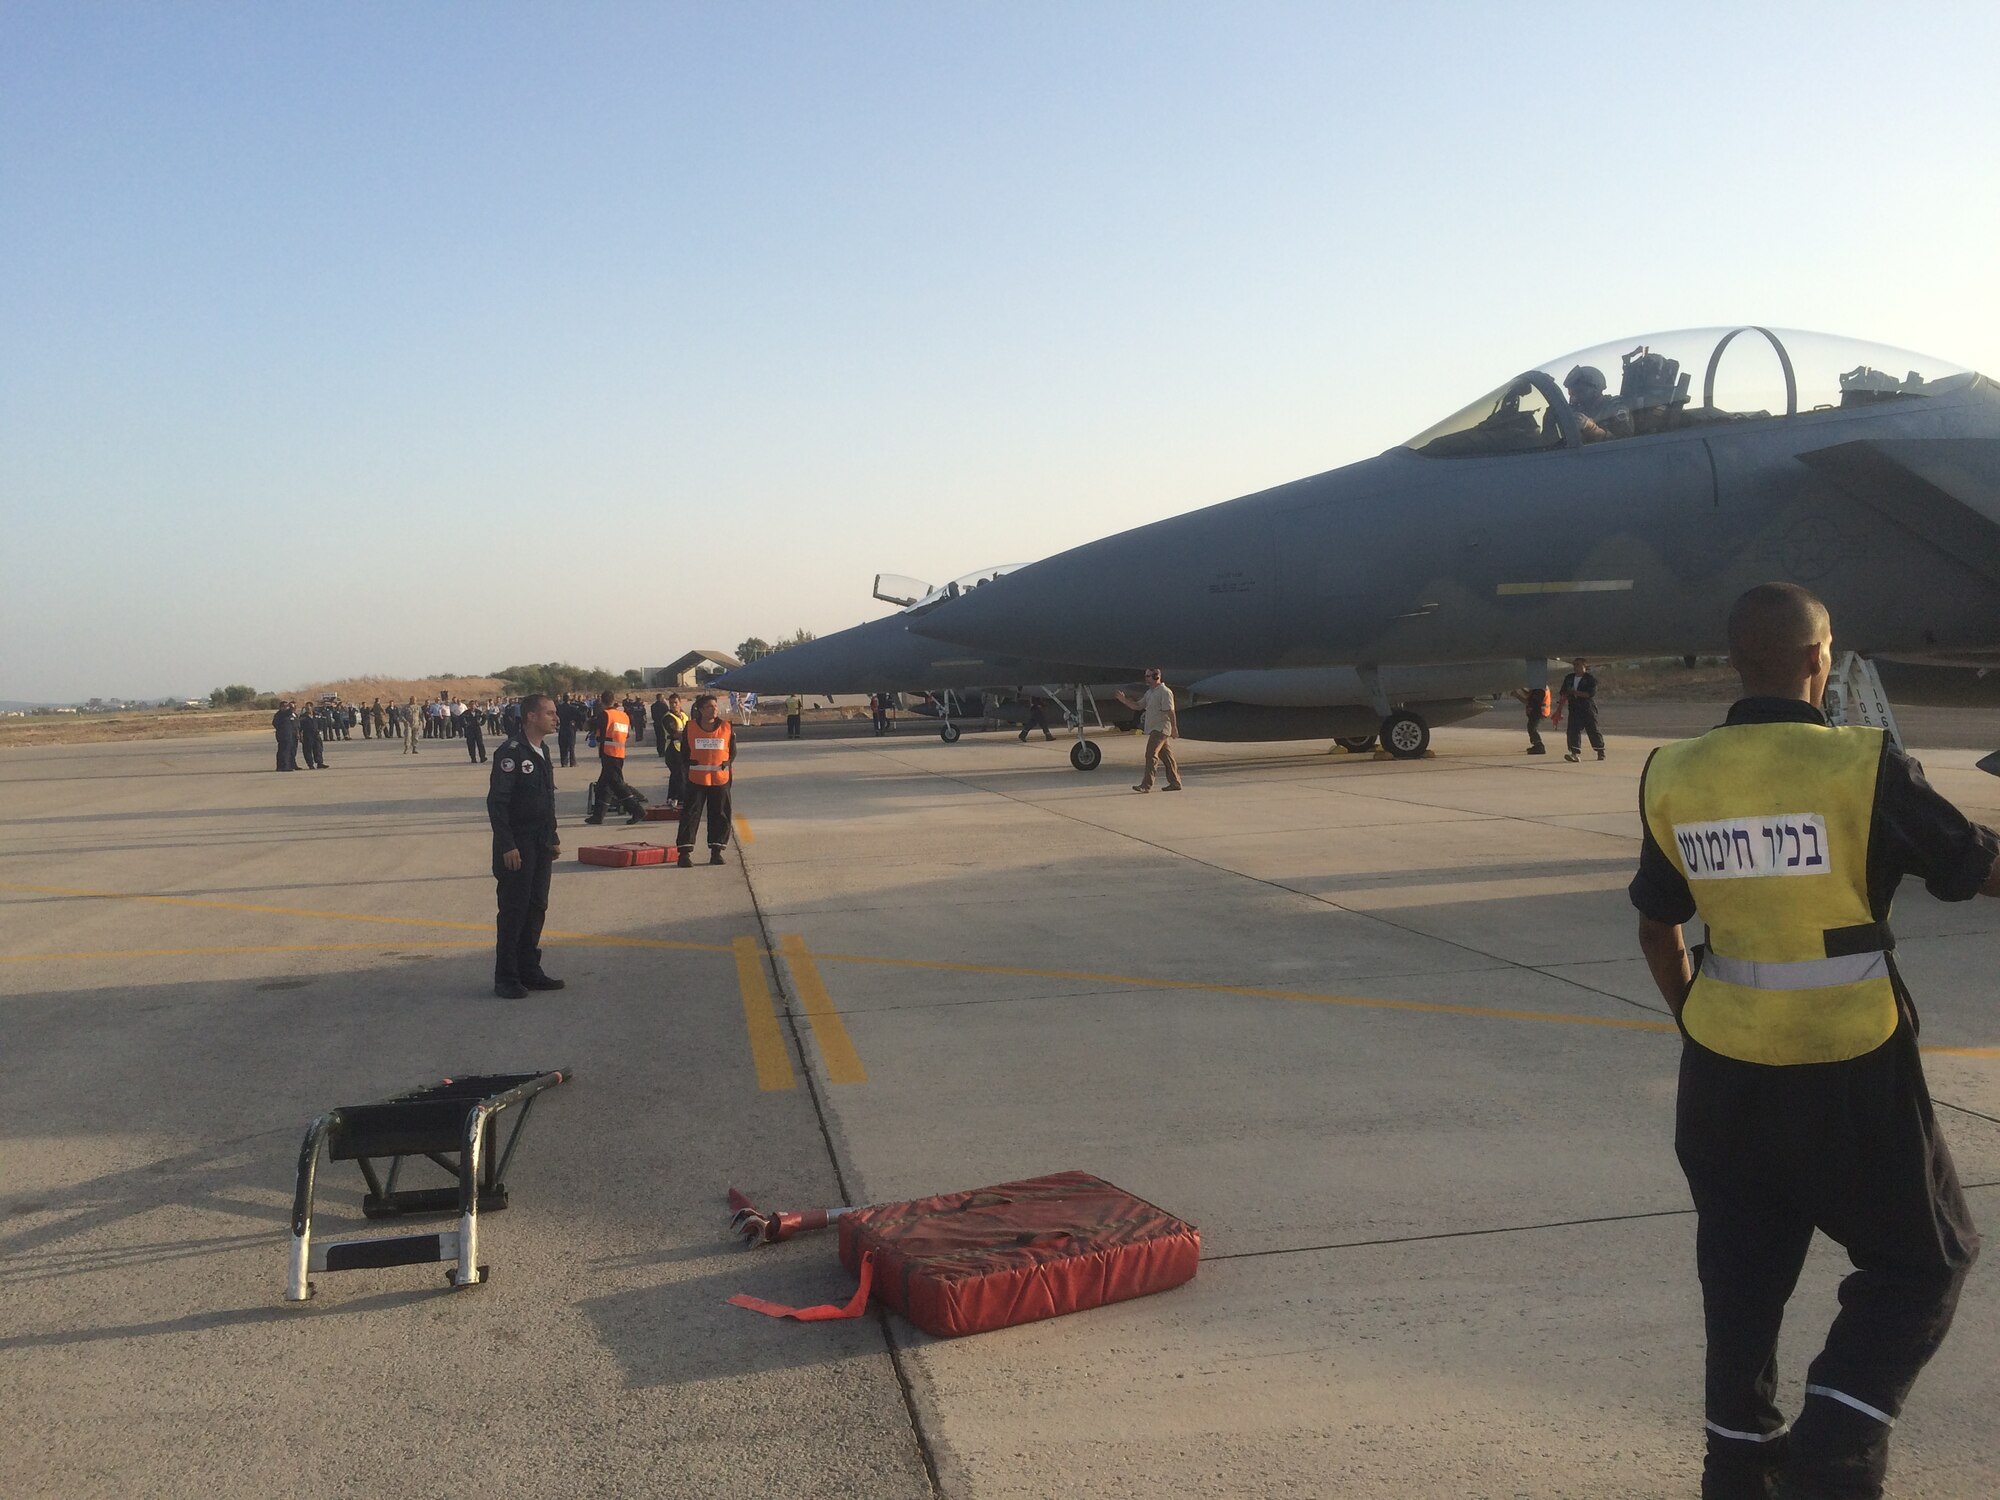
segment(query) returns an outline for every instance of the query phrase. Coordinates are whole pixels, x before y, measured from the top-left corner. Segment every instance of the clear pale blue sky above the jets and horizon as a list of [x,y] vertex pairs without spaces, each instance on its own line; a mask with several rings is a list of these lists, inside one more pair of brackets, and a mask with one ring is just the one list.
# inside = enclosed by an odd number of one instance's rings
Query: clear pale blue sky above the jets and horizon
[[0,698],[658,664],[1822,328],[2000,372],[2000,6],[0,8]]

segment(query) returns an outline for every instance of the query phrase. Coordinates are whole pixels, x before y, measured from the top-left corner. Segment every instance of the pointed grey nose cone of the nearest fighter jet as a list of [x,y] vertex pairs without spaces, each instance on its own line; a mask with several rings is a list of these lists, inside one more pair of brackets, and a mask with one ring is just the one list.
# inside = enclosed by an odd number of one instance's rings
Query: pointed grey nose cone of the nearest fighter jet
[[1210,506],[1060,552],[912,622],[990,654],[1064,662],[1228,664],[1268,648],[1278,602],[1270,524]]

